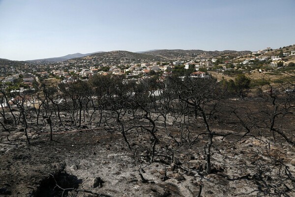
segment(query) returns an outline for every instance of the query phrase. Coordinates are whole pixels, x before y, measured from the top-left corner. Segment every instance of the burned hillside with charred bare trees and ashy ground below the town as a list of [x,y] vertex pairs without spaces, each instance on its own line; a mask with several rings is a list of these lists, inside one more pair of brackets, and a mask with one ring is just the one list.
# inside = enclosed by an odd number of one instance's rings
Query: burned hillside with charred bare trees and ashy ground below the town
[[2,84],[0,195],[295,196],[294,77],[235,82]]

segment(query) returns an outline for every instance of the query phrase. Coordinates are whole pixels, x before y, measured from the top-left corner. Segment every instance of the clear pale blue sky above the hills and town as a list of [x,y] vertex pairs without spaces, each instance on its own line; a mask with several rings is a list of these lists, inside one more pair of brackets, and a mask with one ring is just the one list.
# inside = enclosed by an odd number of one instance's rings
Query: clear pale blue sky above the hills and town
[[0,58],[295,44],[295,0],[0,0]]

